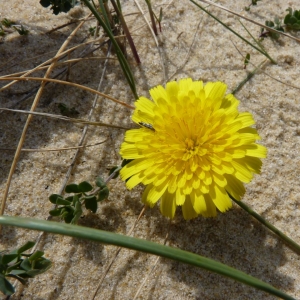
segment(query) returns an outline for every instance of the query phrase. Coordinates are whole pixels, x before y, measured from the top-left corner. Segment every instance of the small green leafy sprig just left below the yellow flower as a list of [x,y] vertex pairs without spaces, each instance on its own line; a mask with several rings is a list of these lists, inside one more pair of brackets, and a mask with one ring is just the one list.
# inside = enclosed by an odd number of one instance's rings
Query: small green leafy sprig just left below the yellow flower
[[76,224],[83,213],[83,205],[95,213],[98,209],[98,202],[107,199],[109,195],[109,189],[101,177],[96,179],[96,186],[98,188],[93,193],[87,194],[93,190],[93,186],[89,182],[83,181],[79,184],[73,183],[66,186],[65,192],[74,195],[63,197],[52,194],[49,200],[56,204],[57,208],[51,210],[50,215],[59,216],[66,223]]

